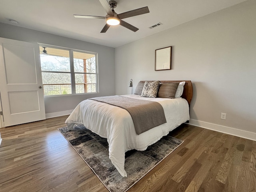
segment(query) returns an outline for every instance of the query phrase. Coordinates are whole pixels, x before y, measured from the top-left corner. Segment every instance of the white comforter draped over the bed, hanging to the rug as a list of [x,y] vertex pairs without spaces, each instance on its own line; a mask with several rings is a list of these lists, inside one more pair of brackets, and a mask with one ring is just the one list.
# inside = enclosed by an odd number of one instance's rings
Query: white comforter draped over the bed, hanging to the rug
[[126,177],[124,156],[128,150],[146,150],[180,124],[189,120],[188,102],[183,98],[145,98],[138,95],[123,95],[141,100],[156,101],[164,108],[167,123],[137,135],[130,114],[122,108],[94,100],[84,100],[66,120],[69,129],[74,124],[84,124],[86,128],[107,138],[109,158],[118,172]]

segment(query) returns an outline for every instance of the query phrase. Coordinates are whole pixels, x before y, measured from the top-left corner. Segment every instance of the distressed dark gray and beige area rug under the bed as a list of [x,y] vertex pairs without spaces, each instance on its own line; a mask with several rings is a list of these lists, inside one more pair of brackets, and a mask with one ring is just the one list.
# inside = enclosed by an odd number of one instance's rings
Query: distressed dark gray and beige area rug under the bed
[[126,192],[183,142],[167,135],[145,151],[126,152],[124,169],[127,177],[122,177],[108,157],[108,142],[105,138],[81,124],[75,125],[74,130],[68,130],[67,127],[58,130],[110,192]]

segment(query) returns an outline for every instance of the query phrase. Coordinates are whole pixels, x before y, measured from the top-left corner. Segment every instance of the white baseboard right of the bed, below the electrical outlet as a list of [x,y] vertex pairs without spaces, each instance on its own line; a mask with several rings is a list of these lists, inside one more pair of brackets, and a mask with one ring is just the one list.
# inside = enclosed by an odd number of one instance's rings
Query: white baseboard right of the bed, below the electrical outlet
[[256,133],[254,132],[244,131],[236,128],[226,127],[226,126],[198,121],[194,119],[190,119],[189,123],[187,124],[256,141]]

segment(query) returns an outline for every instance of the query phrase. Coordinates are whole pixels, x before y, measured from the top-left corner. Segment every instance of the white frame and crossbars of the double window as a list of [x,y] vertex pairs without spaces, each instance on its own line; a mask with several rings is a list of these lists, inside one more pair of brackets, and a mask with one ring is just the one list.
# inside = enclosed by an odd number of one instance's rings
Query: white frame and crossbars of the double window
[[[78,49],[72,49],[72,48],[65,48],[60,46],[54,46],[54,45],[48,45],[48,44],[39,44],[40,47],[46,47],[47,48],[56,48],[56,49],[62,49],[69,51],[69,59],[70,59],[70,72],[66,71],[44,71],[41,67],[41,59],[39,55],[40,60],[40,69],[41,74],[44,72],[47,73],[67,73],[70,74],[71,78],[71,94],[59,94],[59,95],[44,95],[44,97],[60,97],[60,96],[72,96],[72,95],[87,95],[87,94],[97,94],[99,93],[99,73],[98,73],[98,53],[96,52],[90,52],[90,51],[84,51],[84,50],[78,50]],[[94,54],[95,56],[95,73],[84,73],[84,72],[75,72],[74,70],[74,52],[81,52],[85,54]],[[76,93],[76,80],[75,80],[75,74],[93,74],[96,76],[96,92],[90,92],[90,93]],[[58,85],[58,84],[57,84]]]

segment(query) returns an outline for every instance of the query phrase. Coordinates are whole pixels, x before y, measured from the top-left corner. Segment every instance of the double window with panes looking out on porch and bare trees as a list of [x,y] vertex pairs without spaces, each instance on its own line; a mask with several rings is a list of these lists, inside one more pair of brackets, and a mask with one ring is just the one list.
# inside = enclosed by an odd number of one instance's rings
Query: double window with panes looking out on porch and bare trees
[[44,96],[98,92],[97,54],[40,45]]

